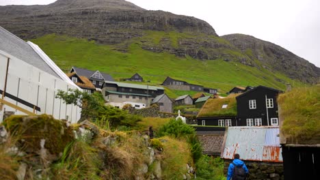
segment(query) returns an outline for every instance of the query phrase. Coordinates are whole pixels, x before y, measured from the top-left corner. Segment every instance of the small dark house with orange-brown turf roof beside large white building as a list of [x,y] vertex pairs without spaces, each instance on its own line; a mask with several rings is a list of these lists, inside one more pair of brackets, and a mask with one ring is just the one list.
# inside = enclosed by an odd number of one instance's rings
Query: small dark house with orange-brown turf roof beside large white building
[[85,76],[78,76],[75,72],[66,74],[72,82],[83,89],[83,91],[87,93],[94,93],[96,91],[96,87],[92,84],[92,82]]

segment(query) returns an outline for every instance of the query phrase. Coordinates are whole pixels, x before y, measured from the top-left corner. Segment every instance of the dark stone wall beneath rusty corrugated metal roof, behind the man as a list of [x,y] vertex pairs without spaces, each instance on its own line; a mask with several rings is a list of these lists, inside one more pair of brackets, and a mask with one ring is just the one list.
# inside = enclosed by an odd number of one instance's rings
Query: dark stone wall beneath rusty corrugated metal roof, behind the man
[[[227,175],[228,167],[232,161],[224,160],[224,174]],[[282,163],[272,162],[245,162],[249,170],[247,180],[282,180],[284,171]]]

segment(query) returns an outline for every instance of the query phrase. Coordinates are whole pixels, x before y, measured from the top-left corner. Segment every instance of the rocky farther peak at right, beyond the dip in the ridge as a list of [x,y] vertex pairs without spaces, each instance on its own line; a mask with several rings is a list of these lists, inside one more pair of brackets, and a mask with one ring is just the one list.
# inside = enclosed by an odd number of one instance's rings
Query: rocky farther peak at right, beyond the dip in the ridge
[[258,59],[269,70],[284,72],[293,79],[314,83],[319,80],[320,68],[271,42],[259,40],[251,35],[230,34],[222,36],[232,45]]

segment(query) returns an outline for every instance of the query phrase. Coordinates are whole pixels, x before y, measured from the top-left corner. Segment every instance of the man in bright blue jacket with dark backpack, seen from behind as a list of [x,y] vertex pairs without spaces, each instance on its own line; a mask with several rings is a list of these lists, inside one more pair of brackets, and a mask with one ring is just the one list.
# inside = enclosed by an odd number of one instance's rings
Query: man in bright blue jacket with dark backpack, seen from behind
[[239,158],[240,155],[235,154],[235,160],[230,163],[228,168],[227,180],[244,180],[249,174],[247,166],[245,166],[244,162],[239,160]]

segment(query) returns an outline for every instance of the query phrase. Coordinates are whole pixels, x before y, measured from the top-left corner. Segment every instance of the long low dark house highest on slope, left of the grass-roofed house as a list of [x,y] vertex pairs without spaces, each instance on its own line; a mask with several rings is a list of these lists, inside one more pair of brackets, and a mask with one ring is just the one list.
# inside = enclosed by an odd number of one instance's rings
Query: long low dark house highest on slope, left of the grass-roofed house
[[185,82],[184,80],[176,80],[174,78],[170,78],[169,76],[165,78],[162,82],[163,86],[168,87],[169,89],[177,89],[177,90],[184,90],[184,91],[205,91],[207,93],[217,93],[217,89],[212,88],[204,88],[202,85],[193,85]]

